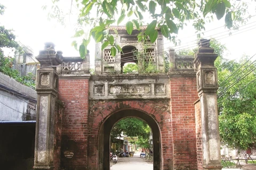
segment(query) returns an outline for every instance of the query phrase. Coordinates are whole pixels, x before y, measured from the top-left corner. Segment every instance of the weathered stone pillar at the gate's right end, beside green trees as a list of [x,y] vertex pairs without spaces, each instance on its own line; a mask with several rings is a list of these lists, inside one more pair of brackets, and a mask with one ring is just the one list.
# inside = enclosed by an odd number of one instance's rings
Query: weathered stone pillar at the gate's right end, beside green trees
[[201,39],[194,64],[197,68],[197,91],[201,102],[203,169],[221,169],[217,109],[217,58],[210,40]]

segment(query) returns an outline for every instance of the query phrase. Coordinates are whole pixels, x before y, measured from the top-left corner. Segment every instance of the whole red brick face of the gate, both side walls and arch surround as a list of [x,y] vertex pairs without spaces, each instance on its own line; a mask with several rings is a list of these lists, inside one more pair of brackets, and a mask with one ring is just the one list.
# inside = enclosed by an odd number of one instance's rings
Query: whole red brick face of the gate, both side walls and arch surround
[[157,122],[161,136],[162,169],[198,168],[200,143],[196,134],[196,123],[199,122],[194,105],[198,99],[195,77],[171,78],[170,99],[89,101],[88,83],[87,79],[59,80],[59,98],[65,103],[61,151],[74,152],[72,159],[62,155],[62,167],[99,169],[102,166],[98,160],[101,125],[112,114],[132,109],[150,115]]

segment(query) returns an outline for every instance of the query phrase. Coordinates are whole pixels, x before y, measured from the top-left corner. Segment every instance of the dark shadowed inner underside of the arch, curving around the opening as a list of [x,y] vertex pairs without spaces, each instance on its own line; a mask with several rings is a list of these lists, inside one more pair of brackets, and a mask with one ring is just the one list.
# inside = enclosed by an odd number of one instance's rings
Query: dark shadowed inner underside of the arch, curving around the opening
[[161,150],[161,135],[157,122],[150,115],[135,110],[126,109],[111,114],[105,122],[101,125],[99,135],[99,169],[109,170],[110,169],[110,131],[114,124],[122,118],[126,117],[137,117],[145,121],[151,128],[153,134],[153,169],[162,168],[162,150]]

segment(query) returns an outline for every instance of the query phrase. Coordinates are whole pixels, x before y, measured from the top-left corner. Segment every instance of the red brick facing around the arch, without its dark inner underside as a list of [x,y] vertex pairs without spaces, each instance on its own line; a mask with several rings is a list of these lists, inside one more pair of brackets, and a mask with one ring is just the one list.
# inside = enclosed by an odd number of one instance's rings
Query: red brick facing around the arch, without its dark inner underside
[[148,113],[153,116],[159,124],[159,128],[163,131],[162,142],[164,155],[164,169],[171,169],[172,162],[169,158],[172,157],[172,143],[170,135],[170,127],[166,125],[165,119],[169,117],[169,99],[163,100],[112,100],[112,101],[92,101],[90,103],[89,115],[89,142],[88,142],[88,162],[90,163],[88,169],[98,169],[98,163],[95,157],[98,157],[98,137],[102,122],[111,114],[121,111],[122,109],[136,109],[141,112]]

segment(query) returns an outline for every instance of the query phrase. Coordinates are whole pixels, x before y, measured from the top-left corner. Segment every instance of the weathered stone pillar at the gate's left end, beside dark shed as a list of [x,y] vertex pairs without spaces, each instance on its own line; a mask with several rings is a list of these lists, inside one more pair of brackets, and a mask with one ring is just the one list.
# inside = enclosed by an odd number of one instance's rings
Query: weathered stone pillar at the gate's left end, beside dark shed
[[36,139],[34,169],[54,168],[55,105],[58,95],[56,65],[61,63],[54,45],[46,43],[45,50],[36,57],[41,67],[37,70]]

